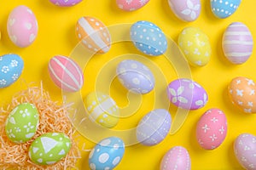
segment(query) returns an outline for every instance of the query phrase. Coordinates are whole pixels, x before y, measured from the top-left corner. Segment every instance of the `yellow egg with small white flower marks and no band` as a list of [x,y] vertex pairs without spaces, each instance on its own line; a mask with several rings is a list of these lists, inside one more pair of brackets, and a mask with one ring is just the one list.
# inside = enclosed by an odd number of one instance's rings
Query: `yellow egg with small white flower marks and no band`
[[212,48],[207,35],[197,27],[187,27],[178,36],[178,45],[190,65],[204,66],[210,61]]

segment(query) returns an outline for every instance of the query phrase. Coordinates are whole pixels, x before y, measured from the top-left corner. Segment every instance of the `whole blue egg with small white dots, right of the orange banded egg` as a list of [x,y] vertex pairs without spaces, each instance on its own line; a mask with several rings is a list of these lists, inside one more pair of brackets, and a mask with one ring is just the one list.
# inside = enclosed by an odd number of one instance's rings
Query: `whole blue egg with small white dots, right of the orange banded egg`
[[167,40],[160,27],[142,20],[131,26],[131,41],[144,54],[159,56],[167,49]]

